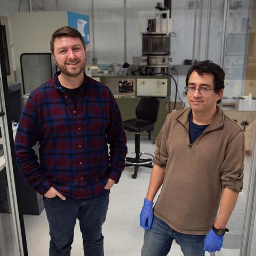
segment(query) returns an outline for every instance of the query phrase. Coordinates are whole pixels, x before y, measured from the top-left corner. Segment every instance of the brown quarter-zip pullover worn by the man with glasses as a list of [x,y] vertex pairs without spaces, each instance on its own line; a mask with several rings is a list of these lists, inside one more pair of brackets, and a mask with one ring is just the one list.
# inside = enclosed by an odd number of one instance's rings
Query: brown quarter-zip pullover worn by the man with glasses
[[222,189],[243,188],[244,133],[218,108],[190,145],[190,111],[169,114],[157,137],[154,163],[166,170],[154,214],[180,233],[204,235],[214,223]]

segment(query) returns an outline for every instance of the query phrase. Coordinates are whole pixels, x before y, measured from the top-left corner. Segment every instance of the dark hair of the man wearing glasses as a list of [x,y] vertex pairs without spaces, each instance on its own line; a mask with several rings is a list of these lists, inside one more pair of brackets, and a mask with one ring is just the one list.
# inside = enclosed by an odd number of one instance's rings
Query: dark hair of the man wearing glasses
[[[188,86],[188,80],[193,71],[196,71],[196,73],[201,76],[206,73],[213,74],[215,93],[218,93],[221,89],[224,89],[225,72],[219,65],[213,63],[211,60],[198,61],[190,67],[186,77],[186,86]],[[217,101],[217,104],[220,103],[220,101],[221,99]]]

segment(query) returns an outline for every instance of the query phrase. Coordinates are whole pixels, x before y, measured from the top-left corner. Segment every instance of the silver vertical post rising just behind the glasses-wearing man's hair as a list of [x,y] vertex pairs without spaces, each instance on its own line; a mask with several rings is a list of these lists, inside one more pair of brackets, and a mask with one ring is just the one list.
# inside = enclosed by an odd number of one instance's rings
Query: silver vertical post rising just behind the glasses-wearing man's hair
[[223,30],[221,38],[220,66],[224,69],[227,46],[229,0],[225,0],[223,9]]

